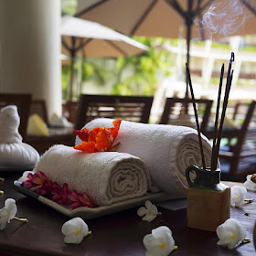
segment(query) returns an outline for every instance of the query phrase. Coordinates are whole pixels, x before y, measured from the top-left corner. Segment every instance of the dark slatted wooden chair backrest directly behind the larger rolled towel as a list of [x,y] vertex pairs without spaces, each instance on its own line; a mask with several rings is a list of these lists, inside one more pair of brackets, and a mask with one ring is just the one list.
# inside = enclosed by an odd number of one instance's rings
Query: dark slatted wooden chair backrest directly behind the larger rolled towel
[[80,95],[75,129],[99,117],[148,123],[153,97]]

